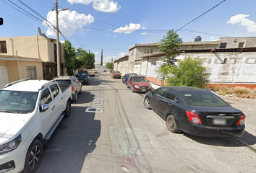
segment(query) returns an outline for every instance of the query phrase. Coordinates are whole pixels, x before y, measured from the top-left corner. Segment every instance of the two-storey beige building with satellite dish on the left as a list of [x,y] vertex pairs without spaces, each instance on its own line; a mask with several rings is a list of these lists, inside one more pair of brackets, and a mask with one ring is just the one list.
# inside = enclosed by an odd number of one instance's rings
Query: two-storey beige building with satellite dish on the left
[[[64,48],[59,45],[63,76]],[[20,79],[53,79],[57,76],[56,54],[56,40],[44,35],[0,37],[0,88]]]

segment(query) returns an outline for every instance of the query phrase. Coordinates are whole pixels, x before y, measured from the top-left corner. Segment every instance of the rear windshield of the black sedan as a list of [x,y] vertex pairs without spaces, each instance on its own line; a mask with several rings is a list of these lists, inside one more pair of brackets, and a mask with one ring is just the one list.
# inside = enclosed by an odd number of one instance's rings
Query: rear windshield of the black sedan
[[181,91],[190,106],[201,107],[227,107],[229,105],[223,102],[216,94],[211,92],[197,92],[192,89],[189,91]]

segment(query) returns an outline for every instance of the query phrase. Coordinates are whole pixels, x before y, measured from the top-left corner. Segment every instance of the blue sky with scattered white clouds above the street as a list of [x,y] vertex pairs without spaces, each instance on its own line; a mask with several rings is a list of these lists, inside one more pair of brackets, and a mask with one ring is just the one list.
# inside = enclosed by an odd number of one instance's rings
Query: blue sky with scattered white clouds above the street
[[[56,39],[56,0],[0,0],[0,37]],[[158,43],[168,30],[184,42],[256,36],[255,0],[59,0],[60,41],[95,53],[96,63],[129,54],[135,44]],[[66,10],[62,10],[66,9]],[[197,18],[198,17],[198,18]]]

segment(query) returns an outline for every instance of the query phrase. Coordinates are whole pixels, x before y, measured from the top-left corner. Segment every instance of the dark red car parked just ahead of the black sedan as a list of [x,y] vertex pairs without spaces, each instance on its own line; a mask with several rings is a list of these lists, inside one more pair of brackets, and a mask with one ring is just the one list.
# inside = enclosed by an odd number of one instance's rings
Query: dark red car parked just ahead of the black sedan
[[152,86],[145,76],[131,76],[127,80],[127,88],[131,88],[132,92],[150,92]]

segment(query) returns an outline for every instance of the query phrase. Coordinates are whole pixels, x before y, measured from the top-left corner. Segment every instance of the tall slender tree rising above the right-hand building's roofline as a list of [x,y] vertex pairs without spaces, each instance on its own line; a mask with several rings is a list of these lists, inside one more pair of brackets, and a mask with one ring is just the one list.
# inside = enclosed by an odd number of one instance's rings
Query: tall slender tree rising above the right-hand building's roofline
[[168,68],[175,66],[176,62],[176,53],[179,53],[179,45],[182,43],[182,39],[179,38],[179,35],[174,32],[174,30],[169,30],[166,33],[166,36],[163,36],[161,39],[161,44],[158,46],[159,52],[166,53],[166,58],[163,59],[163,63],[156,71],[158,73],[158,79],[164,82],[166,76],[168,75]]

